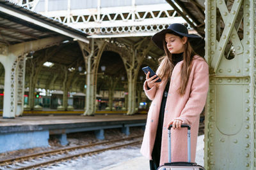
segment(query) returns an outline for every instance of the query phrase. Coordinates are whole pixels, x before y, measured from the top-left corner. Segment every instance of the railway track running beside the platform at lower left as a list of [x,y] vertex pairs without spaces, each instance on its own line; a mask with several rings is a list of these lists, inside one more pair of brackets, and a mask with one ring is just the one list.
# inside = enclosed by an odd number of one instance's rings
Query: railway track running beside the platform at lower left
[[[49,152],[35,153],[31,155],[24,155],[14,159],[7,159],[0,161],[0,169],[35,169],[38,167],[51,166],[67,160],[77,159],[84,155],[93,155],[104,152],[106,150],[113,150],[129,145],[136,145],[141,143],[143,136],[131,136],[129,138],[114,139],[91,145],[81,145],[63,148],[59,150],[52,150]],[[134,139],[136,139],[134,141]]]

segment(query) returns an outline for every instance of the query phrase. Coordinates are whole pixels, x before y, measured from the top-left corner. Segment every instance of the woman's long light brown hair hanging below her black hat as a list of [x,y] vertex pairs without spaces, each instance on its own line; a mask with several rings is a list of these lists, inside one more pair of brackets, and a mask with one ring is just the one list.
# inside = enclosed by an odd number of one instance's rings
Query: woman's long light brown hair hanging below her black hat
[[[176,36],[179,36],[180,38],[183,38],[183,36],[180,36],[179,34],[175,34],[172,32],[171,34],[174,34]],[[169,52],[166,46],[166,41],[163,39],[163,46],[164,46],[164,52],[165,56],[161,57],[159,59],[159,67],[157,69],[157,75],[162,80],[168,80],[172,76],[173,71],[173,57],[172,53]],[[193,48],[191,47],[189,41],[184,44],[184,54],[183,54],[183,63],[180,71],[180,88],[179,88],[179,94],[180,96],[183,96],[186,91],[186,87],[188,85],[188,79],[189,74],[191,72],[191,63],[193,60],[193,56],[196,55]]]

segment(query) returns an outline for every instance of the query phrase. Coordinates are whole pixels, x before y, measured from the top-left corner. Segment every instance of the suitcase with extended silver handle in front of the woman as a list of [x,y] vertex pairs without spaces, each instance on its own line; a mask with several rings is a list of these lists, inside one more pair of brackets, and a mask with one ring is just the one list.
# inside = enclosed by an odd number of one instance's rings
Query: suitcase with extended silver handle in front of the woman
[[205,170],[204,167],[197,165],[191,161],[191,141],[190,141],[190,125],[182,124],[181,127],[188,128],[188,162],[172,162],[171,160],[171,129],[172,125],[168,127],[168,163],[158,167],[157,170]]

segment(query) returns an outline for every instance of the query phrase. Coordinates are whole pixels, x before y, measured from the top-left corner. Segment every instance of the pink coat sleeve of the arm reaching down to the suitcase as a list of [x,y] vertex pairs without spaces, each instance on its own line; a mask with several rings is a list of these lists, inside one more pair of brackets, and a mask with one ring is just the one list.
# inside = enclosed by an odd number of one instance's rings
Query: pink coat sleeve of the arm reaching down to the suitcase
[[176,119],[182,120],[183,124],[193,124],[204,109],[208,89],[209,68],[208,64],[202,61],[195,67],[189,99],[181,111],[180,117]]

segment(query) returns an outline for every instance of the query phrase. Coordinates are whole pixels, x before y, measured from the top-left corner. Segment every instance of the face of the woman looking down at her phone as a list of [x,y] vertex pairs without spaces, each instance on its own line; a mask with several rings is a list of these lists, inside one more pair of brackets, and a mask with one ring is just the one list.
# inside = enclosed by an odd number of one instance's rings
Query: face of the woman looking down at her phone
[[184,45],[188,38],[184,36],[180,38],[170,33],[165,34],[166,47],[170,53],[182,53],[184,52]]

